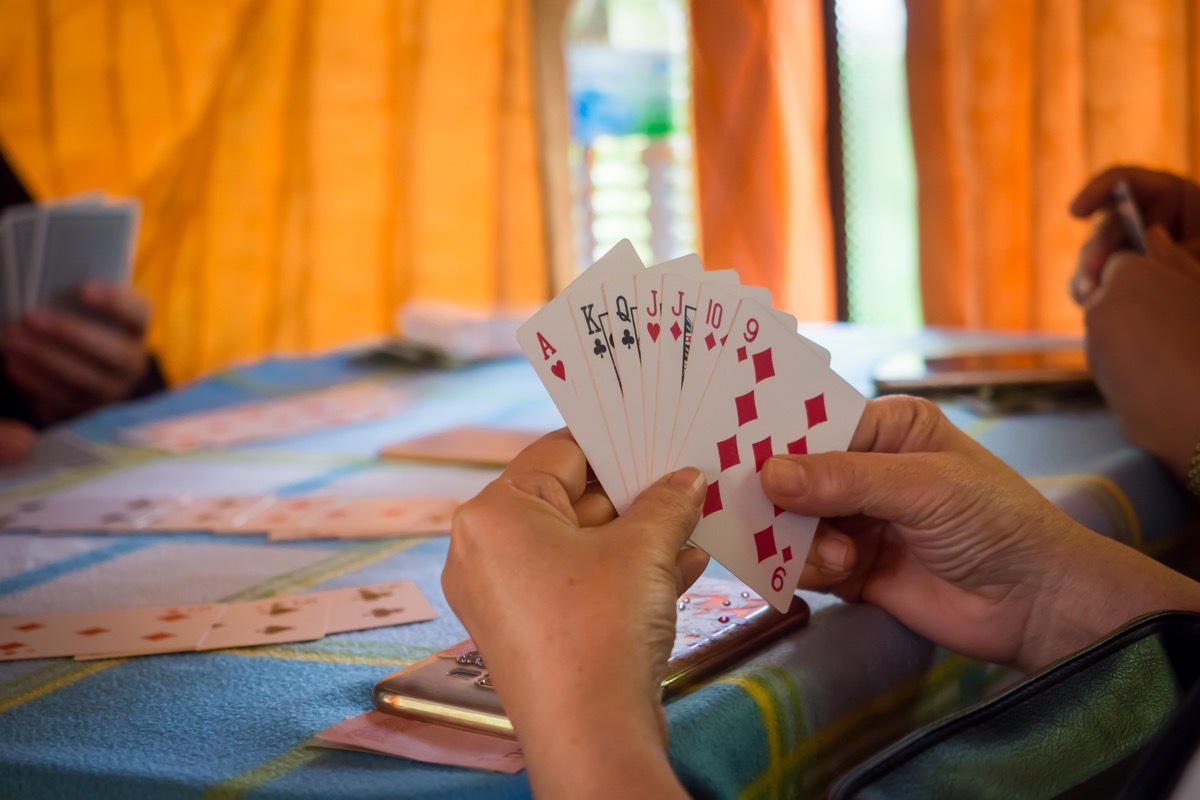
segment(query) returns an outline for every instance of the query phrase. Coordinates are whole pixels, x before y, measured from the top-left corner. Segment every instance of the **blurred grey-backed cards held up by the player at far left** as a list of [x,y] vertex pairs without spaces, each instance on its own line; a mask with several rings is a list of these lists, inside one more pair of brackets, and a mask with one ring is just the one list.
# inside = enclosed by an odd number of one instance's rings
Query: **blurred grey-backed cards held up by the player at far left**
[[36,308],[79,312],[86,281],[128,283],[138,203],[101,194],[18,205],[0,216],[0,327]]

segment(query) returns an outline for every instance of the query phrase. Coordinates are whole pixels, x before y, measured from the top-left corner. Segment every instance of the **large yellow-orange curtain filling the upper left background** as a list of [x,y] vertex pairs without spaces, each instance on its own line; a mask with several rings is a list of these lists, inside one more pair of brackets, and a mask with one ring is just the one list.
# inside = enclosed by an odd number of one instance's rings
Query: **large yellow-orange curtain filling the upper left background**
[[536,305],[533,2],[0,0],[0,144],[38,198],[140,198],[174,377]]

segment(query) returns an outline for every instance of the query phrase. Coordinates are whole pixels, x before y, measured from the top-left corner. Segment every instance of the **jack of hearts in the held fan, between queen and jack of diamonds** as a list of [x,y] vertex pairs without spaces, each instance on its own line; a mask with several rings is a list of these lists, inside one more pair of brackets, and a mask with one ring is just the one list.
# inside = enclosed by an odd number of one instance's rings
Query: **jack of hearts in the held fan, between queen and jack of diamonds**
[[[662,302],[662,284],[668,275],[685,275],[698,278],[703,272],[695,254],[656,264],[634,277],[634,295],[638,308],[638,341],[642,355],[642,409],[646,419],[646,477],[647,483],[656,481],[661,473],[654,471],[654,441],[659,421],[659,372],[666,341],[672,338],[664,325],[666,309]],[[670,438],[670,434],[667,434]],[[664,457],[665,461],[665,457]]]

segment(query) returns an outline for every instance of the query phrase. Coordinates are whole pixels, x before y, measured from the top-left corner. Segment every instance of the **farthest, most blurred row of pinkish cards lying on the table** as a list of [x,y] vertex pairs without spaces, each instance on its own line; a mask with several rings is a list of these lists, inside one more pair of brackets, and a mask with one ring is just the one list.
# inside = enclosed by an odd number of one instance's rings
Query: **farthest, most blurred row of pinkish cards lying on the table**
[[216,450],[380,420],[412,393],[377,383],[335,386],[215,411],[198,411],[121,431],[125,441],[173,453]]

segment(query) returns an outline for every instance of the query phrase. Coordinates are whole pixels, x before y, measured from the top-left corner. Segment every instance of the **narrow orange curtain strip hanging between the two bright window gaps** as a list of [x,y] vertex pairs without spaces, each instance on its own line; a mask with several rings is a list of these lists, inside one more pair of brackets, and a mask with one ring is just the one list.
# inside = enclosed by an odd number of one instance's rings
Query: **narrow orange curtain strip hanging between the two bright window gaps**
[[802,319],[833,319],[821,4],[691,0],[701,241]]

